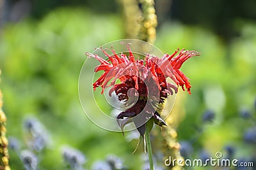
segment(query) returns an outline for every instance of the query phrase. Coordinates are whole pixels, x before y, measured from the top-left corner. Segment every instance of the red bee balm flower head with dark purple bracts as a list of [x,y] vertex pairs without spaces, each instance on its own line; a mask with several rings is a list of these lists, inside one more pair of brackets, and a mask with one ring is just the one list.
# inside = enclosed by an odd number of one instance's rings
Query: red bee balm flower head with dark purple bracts
[[[159,104],[163,104],[164,100],[173,94],[173,91],[177,93],[177,87],[182,87],[182,90],[185,90],[186,87],[188,93],[191,94],[188,78],[179,69],[186,60],[200,55],[200,53],[178,49],[172,55],[165,54],[162,58],[147,54],[145,59],[136,60],[129,45],[127,45],[127,49],[128,56],[125,53],[116,54],[115,50],[109,54],[100,48],[108,60],[92,53],[86,53],[86,55],[99,60],[100,65],[95,67],[95,72],[104,71],[100,78],[93,83],[94,90],[97,87],[102,87],[103,93],[106,87],[111,87],[109,96],[115,92],[118,100],[124,102],[136,97],[134,105],[122,111],[116,119],[122,131],[124,125],[133,121],[143,136],[145,122],[148,119],[152,118],[157,125],[166,125],[156,110],[159,108]],[[167,78],[171,78],[177,85],[168,83]],[[115,84],[116,80],[120,80],[120,83]],[[141,120],[131,119],[137,115]]]

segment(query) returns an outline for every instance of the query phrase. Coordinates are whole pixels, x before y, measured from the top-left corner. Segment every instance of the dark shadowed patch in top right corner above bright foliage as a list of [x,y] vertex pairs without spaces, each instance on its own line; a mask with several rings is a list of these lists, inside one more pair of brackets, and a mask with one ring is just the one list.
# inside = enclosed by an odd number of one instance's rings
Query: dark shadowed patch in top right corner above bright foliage
[[196,24],[211,29],[229,41],[241,33],[236,27],[237,18],[256,20],[255,8],[254,0],[177,0],[173,1],[171,12],[172,18],[189,25]]

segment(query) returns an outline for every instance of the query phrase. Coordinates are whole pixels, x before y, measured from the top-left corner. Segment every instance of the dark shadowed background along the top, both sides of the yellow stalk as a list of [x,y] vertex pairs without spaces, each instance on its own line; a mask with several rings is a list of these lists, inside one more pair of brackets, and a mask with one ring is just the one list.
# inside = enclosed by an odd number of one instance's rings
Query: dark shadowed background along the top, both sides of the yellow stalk
[[[2,0],[6,3],[6,19],[12,20],[12,13],[28,12],[33,18],[42,18],[52,9],[63,6],[83,7],[95,11],[95,13],[116,13],[122,10],[118,5],[120,0]],[[123,1],[123,0],[122,0]],[[256,1],[255,0],[157,0],[157,18],[161,24],[166,19],[174,19],[189,25],[200,25],[211,29],[220,35],[225,41],[239,36],[236,20],[255,21],[256,20]],[[0,5],[1,7],[1,5]],[[20,10],[20,11],[15,11]],[[1,14],[0,14],[1,15]],[[19,17],[19,16],[18,16]],[[1,20],[1,17],[0,17]]]

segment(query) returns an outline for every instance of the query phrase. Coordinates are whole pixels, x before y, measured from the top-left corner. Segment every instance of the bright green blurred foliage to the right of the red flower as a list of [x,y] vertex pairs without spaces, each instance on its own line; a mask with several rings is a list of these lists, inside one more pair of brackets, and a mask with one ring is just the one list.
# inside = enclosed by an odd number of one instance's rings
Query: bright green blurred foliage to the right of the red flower
[[[179,139],[195,147],[191,153],[194,157],[203,148],[210,155],[218,151],[225,153],[226,145],[237,147],[236,158],[255,159],[256,156],[255,144],[243,142],[246,129],[256,124],[253,106],[256,98],[256,52],[253,48],[256,34],[253,30],[256,24],[236,22],[241,24],[241,36],[234,38],[230,45],[200,27],[166,23],[159,29],[156,46],[163,52],[170,53],[180,46],[202,53],[182,67],[191,79],[192,91],[184,101],[186,117],[177,129]],[[252,117],[244,120],[240,114],[244,109],[249,110]],[[203,121],[207,110],[215,113],[212,123]]]

